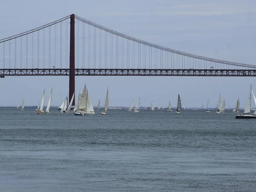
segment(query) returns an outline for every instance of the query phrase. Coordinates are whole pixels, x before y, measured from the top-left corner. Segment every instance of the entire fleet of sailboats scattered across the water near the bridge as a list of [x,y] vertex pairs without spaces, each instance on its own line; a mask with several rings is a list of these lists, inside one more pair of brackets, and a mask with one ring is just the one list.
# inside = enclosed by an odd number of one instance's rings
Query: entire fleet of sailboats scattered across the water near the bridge
[[[256,105],[256,97],[254,96],[253,90],[252,90],[252,86],[250,86],[250,94],[249,94],[249,99],[247,101],[247,105],[244,109],[244,113],[240,114],[240,115],[236,115],[236,119],[256,119],[256,111],[253,113],[253,115],[251,115],[250,111],[251,111],[251,97],[253,95],[253,99]],[[71,110],[72,107],[72,103],[75,97],[75,93],[73,93],[73,96],[70,100],[70,103],[68,104],[68,98],[66,97],[63,102],[61,103],[61,105],[58,107],[58,110],[60,110],[60,113],[68,113]],[[107,93],[106,93],[106,99],[105,99],[105,107],[103,109],[103,111],[101,112],[101,114],[107,114],[108,111],[108,105],[109,105],[109,100],[108,100],[108,88],[107,88]],[[47,104],[47,108],[46,110],[44,110],[44,102],[45,102],[45,89],[44,89],[44,93],[41,99],[41,102],[38,103],[38,107],[36,108],[36,110],[38,110],[38,114],[40,114],[41,112],[43,113],[51,113],[50,112],[50,106],[51,106],[51,102],[52,102],[52,90],[49,96],[49,101]],[[131,102],[131,106],[128,109],[128,111],[131,111],[133,108],[133,102],[134,99]],[[239,113],[239,105],[240,105],[240,101],[239,98],[236,102],[235,108],[233,109],[233,113]],[[17,109],[19,108],[19,103],[17,105]],[[99,111],[100,108],[100,99],[98,102],[98,106],[96,108],[97,111]],[[203,107],[202,107],[203,108]],[[147,108],[145,107],[145,110]],[[161,109],[160,107],[158,107],[157,109]],[[165,108],[162,108],[165,109]],[[175,111],[175,113],[180,113],[181,111],[181,99],[180,99],[180,94],[178,94],[178,99],[177,99],[177,109]],[[221,98],[221,94],[219,95],[219,102],[216,109],[216,113],[224,113],[225,112],[225,100],[222,102],[222,98]],[[24,110],[24,99],[21,105],[21,110]],[[150,110],[154,111],[155,107],[154,107],[154,102],[151,102],[151,106],[150,106]],[[184,106],[184,110],[185,110],[185,106]],[[169,101],[169,105],[167,108],[167,111],[172,111],[172,107],[171,107],[171,101]],[[230,111],[230,106],[228,108],[228,111]],[[89,91],[87,89],[86,84],[84,85],[84,90],[81,93],[81,90],[79,90],[79,96],[78,96],[78,100],[76,103],[76,106],[73,110],[75,115],[88,115],[88,114],[95,114],[94,109],[93,109],[93,105],[92,102],[90,100],[90,96],[89,96]],[[140,112],[140,97],[139,100],[137,102],[137,105],[134,109],[134,112]],[[209,110],[209,99],[207,100],[207,107],[206,107],[206,112],[210,113],[211,111]]]

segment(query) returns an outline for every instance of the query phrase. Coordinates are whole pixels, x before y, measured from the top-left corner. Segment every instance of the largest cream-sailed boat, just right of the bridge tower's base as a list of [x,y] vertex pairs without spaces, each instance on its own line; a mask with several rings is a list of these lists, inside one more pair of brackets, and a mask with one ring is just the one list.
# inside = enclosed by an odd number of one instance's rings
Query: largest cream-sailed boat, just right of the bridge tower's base
[[78,113],[81,113],[82,115],[94,115],[94,109],[93,104],[90,100],[89,92],[87,90],[86,84],[84,85],[84,90],[81,95],[81,99],[79,102],[79,110],[74,113],[75,115],[78,115]]

